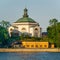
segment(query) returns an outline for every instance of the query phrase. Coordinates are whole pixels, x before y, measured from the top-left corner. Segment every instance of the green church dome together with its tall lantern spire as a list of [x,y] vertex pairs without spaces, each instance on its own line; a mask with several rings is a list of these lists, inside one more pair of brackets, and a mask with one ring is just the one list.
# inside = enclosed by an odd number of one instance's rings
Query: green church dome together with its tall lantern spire
[[20,22],[31,22],[31,23],[36,23],[32,18],[29,18],[27,14],[27,9],[24,9],[24,15],[22,18],[18,19],[15,23],[20,23]]

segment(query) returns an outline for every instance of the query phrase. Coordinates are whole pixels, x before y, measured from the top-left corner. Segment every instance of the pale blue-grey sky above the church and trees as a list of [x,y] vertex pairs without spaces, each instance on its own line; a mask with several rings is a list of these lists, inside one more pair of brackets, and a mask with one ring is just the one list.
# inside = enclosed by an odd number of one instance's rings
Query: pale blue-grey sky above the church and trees
[[0,0],[0,21],[17,21],[25,7],[29,17],[40,24],[42,31],[46,31],[50,19],[56,18],[60,22],[60,0]]

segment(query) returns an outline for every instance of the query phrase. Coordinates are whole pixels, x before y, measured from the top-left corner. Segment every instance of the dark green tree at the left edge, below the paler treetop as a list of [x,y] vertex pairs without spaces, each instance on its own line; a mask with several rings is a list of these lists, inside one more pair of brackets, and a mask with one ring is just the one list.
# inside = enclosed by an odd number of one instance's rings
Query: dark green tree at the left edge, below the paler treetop
[[0,26],[0,42],[2,43],[2,45],[6,45],[9,39],[9,34],[8,31],[6,30],[6,28]]

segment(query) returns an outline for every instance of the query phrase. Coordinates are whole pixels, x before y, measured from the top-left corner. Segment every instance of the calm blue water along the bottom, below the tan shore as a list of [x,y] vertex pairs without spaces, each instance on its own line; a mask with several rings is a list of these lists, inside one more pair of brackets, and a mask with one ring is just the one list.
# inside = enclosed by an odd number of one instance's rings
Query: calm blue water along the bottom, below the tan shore
[[0,60],[60,60],[60,53],[0,53]]

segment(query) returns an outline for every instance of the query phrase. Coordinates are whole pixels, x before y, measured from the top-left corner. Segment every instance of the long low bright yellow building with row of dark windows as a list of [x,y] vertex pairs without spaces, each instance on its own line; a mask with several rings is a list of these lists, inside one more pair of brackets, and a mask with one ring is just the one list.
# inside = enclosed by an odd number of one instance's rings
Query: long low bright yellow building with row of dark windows
[[48,42],[22,42],[24,48],[49,48]]

